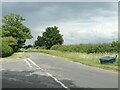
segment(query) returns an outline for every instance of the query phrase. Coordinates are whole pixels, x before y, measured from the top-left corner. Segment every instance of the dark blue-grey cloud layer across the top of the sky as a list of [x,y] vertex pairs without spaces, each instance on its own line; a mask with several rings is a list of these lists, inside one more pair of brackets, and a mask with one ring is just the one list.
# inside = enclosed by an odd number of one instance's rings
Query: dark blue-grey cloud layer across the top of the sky
[[[108,17],[112,15],[102,13],[103,10],[115,12],[116,3],[41,3],[41,2],[9,2],[3,3],[3,15],[18,13],[28,21],[26,24],[35,27],[59,21],[78,19],[87,22],[91,17]],[[117,13],[116,13],[117,14]]]

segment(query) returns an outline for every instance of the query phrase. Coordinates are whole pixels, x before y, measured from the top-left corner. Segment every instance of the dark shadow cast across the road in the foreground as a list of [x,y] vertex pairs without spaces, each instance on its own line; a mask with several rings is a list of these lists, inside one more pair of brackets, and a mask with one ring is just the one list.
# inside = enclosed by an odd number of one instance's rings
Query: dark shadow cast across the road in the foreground
[[[59,83],[47,75],[31,74],[34,71],[2,71],[2,88],[56,88],[65,90]],[[72,80],[61,80],[71,90],[104,90],[77,87]],[[105,89],[117,90],[117,89]]]

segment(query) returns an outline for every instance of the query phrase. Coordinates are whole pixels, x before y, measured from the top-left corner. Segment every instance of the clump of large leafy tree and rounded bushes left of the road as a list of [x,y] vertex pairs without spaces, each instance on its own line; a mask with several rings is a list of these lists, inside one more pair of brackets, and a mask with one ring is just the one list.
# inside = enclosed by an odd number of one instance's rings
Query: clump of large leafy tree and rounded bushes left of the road
[[30,29],[23,24],[25,18],[17,14],[3,16],[1,26],[2,53],[0,56],[9,56],[17,52],[23,45],[26,39],[31,39]]

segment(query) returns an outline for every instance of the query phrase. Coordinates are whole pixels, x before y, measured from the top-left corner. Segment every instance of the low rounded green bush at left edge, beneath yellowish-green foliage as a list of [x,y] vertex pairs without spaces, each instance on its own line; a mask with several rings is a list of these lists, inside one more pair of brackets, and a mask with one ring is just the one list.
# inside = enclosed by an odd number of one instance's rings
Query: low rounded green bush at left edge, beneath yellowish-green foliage
[[0,56],[7,57],[7,56],[12,55],[13,52],[14,51],[10,46],[2,43],[2,55],[0,55]]

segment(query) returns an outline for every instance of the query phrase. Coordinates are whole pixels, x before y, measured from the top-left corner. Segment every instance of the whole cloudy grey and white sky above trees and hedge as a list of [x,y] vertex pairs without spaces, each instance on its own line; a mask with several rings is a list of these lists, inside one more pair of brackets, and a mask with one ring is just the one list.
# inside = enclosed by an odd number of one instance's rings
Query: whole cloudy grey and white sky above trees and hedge
[[46,27],[58,26],[64,44],[111,42],[118,39],[117,2],[3,2],[2,15],[20,14],[31,29],[33,44]]

